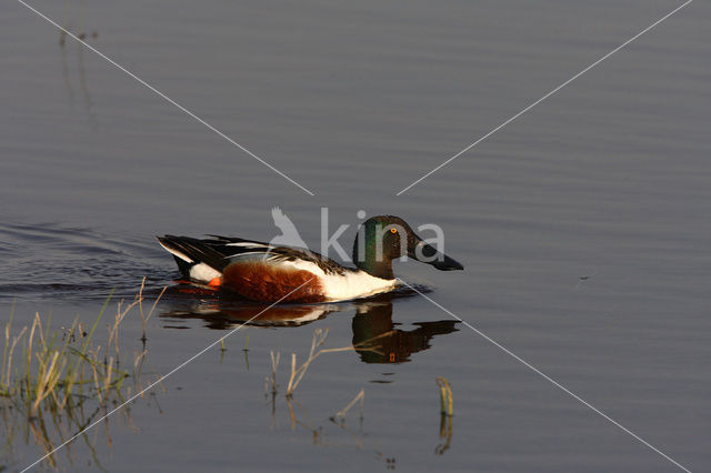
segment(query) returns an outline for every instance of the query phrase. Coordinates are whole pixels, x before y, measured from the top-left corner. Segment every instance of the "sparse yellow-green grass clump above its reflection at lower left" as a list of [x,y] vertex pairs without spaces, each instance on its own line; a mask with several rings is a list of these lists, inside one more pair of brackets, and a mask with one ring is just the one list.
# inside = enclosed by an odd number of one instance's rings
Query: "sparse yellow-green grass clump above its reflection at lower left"
[[[118,329],[136,306],[142,320],[150,318],[150,313],[148,318],[143,315],[142,290],[143,284],[133,301],[117,304],[113,320],[107,323],[103,346],[96,342],[96,332],[111,295],[88,330],[76,319],[69,329],[51,331],[51,318],[43,320],[38,312],[30,326],[13,334],[11,313],[3,333],[0,401],[12,403],[28,415],[37,415],[41,409],[61,413],[87,399],[98,401],[101,406],[106,406],[109,397],[121,399],[123,381],[136,375],[146,350],[133,353],[131,371],[124,369],[120,363]],[[154,308],[156,304],[151,313]]]

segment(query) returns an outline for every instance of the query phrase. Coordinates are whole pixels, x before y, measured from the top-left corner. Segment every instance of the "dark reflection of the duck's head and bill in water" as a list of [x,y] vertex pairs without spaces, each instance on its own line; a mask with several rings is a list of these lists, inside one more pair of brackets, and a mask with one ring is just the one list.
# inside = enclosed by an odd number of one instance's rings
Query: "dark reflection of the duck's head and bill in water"
[[403,363],[410,354],[430,348],[434,335],[457,332],[454,320],[417,322],[417,329],[395,329],[392,321],[392,302],[364,303],[353,316],[353,346],[365,363]]

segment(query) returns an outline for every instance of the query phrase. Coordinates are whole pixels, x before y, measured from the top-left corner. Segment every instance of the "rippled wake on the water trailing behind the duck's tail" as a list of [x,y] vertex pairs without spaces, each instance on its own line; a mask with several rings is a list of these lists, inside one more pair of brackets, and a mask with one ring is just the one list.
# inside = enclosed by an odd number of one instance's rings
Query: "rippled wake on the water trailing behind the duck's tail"
[[111,291],[132,295],[143,276],[153,290],[169,283],[173,272],[152,263],[159,250],[151,243],[58,223],[0,224],[0,298],[88,300]]

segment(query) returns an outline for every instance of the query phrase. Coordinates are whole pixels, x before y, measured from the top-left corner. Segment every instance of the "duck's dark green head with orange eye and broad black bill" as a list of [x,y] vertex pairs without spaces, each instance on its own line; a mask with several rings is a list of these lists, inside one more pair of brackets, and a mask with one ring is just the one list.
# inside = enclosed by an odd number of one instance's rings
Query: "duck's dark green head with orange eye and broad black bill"
[[393,279],[392,260],[404,256],[433,265],[440,271],[464,266],[422,241],[399,217],[378,215],[358,229],[353,243],[353,263],[375,278]]

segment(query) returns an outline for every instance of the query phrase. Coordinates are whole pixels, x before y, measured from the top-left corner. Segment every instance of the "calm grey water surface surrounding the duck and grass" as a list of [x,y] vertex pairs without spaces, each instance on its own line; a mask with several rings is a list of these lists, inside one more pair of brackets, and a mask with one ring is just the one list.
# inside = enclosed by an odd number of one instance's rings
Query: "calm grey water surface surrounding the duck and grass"
[[[674,1],[33,1],[316,193],[308,195],[8,0],[0,7],[0,321],[93,320],[177,276],[153,236],[320,246],[356,212],[434,222],[464,272],[397,272],[692,471],[711,462],[711,6],[697,1],[400,197],[395,192],[677,7]],[[98,36],[91,37],[96,31]],[[590,276],[581,280],[581,276]],[[673,471],[420,295],[249,326],[58,455],[93,471]],[[249,311],[252,312],[249,312]],[[253,308],[169,292],[157,376]],[[292,324],[293,325],[293,324]],[[395,330],[394,363],[288,358]],[[179,330],[182,329],[182,330]],[[123,322],[140,348],[140,320]],[[242,348],[249,336],[247,358]],[[279,394],[264,397],[278,351]],[[394,350],[394,349],[393,349]],[[449,449],[437,376],[453,390]],[[329,417],[364,390],[340,425]],[[21,426],[18,429],[22,429]],[[318,435],[314,435],[316,431]],[[6,431],[7,432],[7,431]],[[6,435],[3,432],[2,435]],[[56,442],[71,430],[53,433]],[[110,441],[107,436],[110,435]],[[4,443],[4,442],[3,442]],[[19,435],[2,465],[42,449]]]

